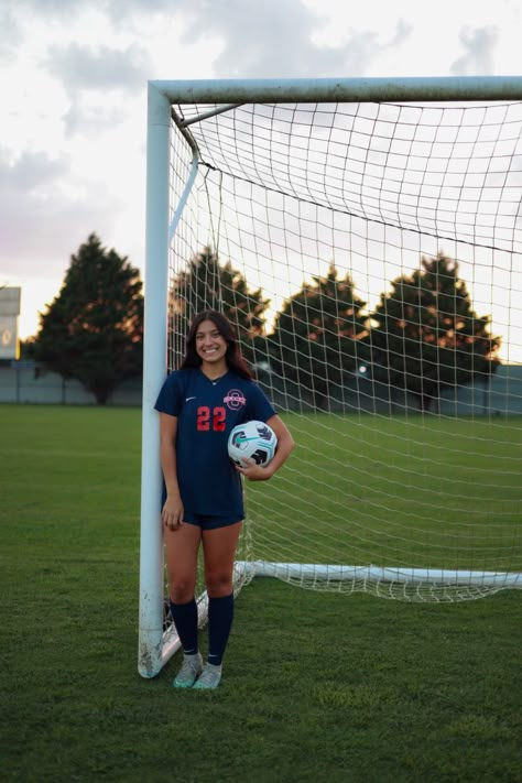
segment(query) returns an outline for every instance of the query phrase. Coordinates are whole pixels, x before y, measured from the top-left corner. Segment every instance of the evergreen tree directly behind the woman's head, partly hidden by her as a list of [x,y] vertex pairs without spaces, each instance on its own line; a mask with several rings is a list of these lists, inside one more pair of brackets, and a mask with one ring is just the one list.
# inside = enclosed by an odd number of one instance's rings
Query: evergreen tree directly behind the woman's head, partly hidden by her
[[255,341],[264,334],[264,311],[270,301],[261,289],[249,291],[246,278],[230,261],[220,264],[210,248],[204,248],[181,272],[171,291],[171,319],[175,334],[186,334],[191,319],[204,309],[218,309],[236,326],[241,354],[254,363]]

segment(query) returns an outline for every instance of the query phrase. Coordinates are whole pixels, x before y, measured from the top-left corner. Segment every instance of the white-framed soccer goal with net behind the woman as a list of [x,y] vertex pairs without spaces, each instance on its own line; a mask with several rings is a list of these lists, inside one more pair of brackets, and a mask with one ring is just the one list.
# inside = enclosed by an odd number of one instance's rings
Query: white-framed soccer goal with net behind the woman
[[522,77],[150,83],[143,676],[178,646],[153,405],[203,307],[296,441],[246,487],[237,590],[522,587],[521,196]]

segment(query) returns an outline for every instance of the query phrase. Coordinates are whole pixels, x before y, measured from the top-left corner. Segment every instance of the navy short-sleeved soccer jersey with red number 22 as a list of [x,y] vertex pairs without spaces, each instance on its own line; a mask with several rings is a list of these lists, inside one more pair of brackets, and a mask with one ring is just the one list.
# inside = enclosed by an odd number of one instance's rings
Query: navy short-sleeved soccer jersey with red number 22
[[227,443],[237,424],[267,422],[275,414],[263,391],[233,372],[211,381],[199,369],[177,370],[154,407],[177,417],[177,481],[185,512],[243,519],[241,476]]

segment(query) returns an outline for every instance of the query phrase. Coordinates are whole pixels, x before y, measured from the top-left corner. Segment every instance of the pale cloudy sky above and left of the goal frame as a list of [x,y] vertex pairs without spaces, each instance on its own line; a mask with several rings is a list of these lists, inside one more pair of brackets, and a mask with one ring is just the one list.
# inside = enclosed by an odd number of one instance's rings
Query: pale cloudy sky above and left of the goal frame
[[520,0],[0,0],[0,287],[96,232],[144,275],[149,79],[519,75]]

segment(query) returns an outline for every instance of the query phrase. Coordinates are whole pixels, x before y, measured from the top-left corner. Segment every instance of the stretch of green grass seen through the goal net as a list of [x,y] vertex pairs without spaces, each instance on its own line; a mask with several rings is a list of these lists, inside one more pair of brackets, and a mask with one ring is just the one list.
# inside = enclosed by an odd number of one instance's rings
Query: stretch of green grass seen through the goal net
[[248,487],[257,557],[522,570],[522,416],[286,421],[289,466]]

